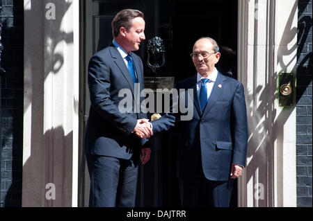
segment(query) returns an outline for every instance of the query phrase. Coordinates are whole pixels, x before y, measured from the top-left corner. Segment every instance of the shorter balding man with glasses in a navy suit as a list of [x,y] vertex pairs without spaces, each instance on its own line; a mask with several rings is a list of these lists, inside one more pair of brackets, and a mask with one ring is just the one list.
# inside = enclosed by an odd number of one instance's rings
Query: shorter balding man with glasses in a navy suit
[[[223,76],[215,67],[220,58],[218,44],[210,37],[195,42],[191,58],[197,75],[175,88],[179,102],[193,98],[193,117],[164,114],[152,121],[153,133],[179,121],[177,177],[182,206],[230,206],[233,179],[246,166],[248,127],[241,82]],[[188,90],[193,91],[192,94]],[[181,107],[181,104],[179,104]],[[190,108],[190,107],[188,107]]]

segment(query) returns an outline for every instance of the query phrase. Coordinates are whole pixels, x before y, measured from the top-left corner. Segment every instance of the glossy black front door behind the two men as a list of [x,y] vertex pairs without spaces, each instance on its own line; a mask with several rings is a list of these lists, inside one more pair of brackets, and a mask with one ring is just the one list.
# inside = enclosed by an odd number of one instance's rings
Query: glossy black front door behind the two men
[[[88,0],[82,1],[84,12],[85,72],[91,55],[111,44],[111,21],[125,8],[145,14],[145,37],[136,53],[141,56],[145,77],[156,74],[147,66],[147,40],[158,36],[166,49],[166,64],[158,76],[174,77],[175,82],[196,73],[189,54],[199,37],[209,36],[220,46],[236,51],[237,1],[229,0]],[[86,73],[85,73],[86,76]],[[85,116],[90,106],[88,87],[85,90]],[[175,178],[177,128],[156,136],[152,157],[141,166],[138,177],[137,206],[179,206],[179,188]],[[85,179],[88,182],[88,179]],[[86,184],[88,187],[88,184]],[[86,188],[86,197],[88,188]],[[85,199],[86,202],[87,199]],[[86,205],[86,203],[85,203]]]

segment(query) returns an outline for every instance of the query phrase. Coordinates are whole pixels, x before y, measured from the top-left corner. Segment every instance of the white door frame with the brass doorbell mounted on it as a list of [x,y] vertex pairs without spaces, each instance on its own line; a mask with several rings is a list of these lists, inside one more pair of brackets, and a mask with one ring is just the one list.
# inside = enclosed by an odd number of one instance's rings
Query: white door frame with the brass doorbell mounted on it
[[296,105],[279,107],[277,79],[296,73],[297,0],[239,0],[238,77],[248,112],[239,206],[296,206]]

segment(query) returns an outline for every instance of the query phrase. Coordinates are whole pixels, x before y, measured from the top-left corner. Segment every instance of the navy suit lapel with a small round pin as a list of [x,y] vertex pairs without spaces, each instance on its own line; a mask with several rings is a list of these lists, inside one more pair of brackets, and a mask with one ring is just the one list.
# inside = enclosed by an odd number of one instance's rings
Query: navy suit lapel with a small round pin
[[214,83],[213,89],[211,91],[211,95],[209,97],[209,100],[207,100],[207,105],[204,107],[202,118],[204,118],[204,116],[208,114],[210,109],[215,105],[216,100],[218,99],[218,97],[220,96],[220,93],[224,89],[224,86],[225,86],[223,85],[224,80],[225,80],[225,77],[221,73],[218,72],[218,76],[216,78],[216,82]]

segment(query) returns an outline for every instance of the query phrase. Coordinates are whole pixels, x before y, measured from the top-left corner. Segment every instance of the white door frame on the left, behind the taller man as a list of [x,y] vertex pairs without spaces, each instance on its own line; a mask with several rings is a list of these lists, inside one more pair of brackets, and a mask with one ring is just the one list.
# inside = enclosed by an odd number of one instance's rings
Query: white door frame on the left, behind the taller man
[[79,1],[24,0],[24,27],[22,206],[77,206]]

